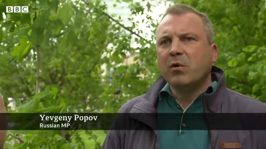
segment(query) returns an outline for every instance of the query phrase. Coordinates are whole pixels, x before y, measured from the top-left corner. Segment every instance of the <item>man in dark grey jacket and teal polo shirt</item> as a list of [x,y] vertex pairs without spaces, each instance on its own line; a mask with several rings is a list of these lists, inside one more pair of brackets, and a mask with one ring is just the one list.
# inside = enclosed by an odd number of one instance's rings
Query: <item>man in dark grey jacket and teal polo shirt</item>
[[[218,47],[205,14],[184,4],[169,7],[157,28],[156,53],[162,76],[120,113],[266,113],[265,103],[226,88],[223,70],[212,65]],[[151,119],[139,115],[133,119],[153,128]],[[266,149],[264,130],[184,130],[183,116],[179,130],[110,130],[102,148]],[[204,118],[198,122],[212,126]]]

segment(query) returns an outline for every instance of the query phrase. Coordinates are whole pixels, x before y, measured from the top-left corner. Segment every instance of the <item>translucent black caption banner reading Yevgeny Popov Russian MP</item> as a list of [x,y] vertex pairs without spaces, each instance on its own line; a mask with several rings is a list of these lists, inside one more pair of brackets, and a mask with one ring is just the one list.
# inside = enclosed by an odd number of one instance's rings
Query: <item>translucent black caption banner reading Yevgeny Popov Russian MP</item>
[[265,113],[0,113],[0,121],[1,130],[266,130]]

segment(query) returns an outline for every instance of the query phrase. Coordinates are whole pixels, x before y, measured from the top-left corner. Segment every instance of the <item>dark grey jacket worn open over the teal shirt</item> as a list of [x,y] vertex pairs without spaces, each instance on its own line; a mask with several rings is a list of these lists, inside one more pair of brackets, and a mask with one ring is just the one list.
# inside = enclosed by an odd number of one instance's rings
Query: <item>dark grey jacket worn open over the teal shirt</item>
[[[212,77],[218,81],[211,94],[204,94],[202,102],[205,113],[266,113],[266,104],[226,88],[223,70],[213,66]],[[160,77],[150,90],[124,104],[121,113],[155,113],[159,91],[166,81]],[[152,126],[151,120],[135,117],[143,125]],[[228,122],[230,123],[230,122]],[[266,149],[266,130],[209,130],[209,149],[220,149],[222,142],[240,142],[242,149]],[[229,148],[229,147],[225,147]],[[159,149],[157,130],[109,130],[102,149]],[[177,147],[178,149],[178,147]]]

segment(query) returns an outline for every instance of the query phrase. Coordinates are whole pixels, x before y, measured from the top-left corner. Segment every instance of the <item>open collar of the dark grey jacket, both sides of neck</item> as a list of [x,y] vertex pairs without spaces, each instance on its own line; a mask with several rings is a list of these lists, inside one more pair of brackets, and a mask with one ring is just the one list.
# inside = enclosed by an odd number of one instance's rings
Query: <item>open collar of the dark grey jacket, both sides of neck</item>
[[[204,112],[206,113],[220,113],[222,103],[229,95],[226,88],[226,80],[224,71],[216,66],[211,68],[212,79],[217,80],[217,87],[211,94],[204,94],[202,96]],[[133,106],[130,113],[155,113],[155,106],[159,100],[159,92],[167,82],[160,76],[143,98]]]

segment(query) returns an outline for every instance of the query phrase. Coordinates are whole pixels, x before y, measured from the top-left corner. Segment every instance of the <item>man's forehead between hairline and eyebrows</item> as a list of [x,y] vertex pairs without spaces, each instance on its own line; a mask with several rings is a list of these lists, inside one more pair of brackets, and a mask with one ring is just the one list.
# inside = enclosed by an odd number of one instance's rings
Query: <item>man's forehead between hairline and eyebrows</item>
[[[203,31],[203,32],[202,32]],[[157,36],[167,33],[182,34],[185,32],[193,32],[195,34],[204,34],[204,25],[202,19],[193,13],[182,15],[168,14],[164,17],[157,28]]]

